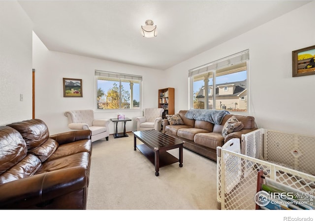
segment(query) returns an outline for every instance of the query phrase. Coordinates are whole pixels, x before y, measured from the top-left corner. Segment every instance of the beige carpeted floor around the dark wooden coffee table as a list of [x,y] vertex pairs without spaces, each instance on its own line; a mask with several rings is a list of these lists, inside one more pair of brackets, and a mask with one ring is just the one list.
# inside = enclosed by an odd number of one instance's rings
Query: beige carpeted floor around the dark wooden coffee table
[[216,162],[184,148],[183,167],[161,167],[157,177],[128,135],[93,142],[88,210],[218,209]]

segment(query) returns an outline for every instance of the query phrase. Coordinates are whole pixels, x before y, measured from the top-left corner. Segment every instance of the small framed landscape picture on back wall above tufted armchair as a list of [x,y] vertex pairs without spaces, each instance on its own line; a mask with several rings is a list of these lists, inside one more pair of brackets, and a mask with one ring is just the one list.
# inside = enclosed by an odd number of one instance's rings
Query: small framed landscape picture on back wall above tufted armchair
[[63,97],[83,97],[82,79],[63,78]]

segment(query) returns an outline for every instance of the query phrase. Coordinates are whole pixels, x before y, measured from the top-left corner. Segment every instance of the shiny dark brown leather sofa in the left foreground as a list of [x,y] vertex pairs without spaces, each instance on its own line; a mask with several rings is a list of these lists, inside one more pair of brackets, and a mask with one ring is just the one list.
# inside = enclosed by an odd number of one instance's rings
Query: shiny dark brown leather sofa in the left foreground
[[0,127],[1,209],[86,209],[91,131],[49,137],[40,119]]

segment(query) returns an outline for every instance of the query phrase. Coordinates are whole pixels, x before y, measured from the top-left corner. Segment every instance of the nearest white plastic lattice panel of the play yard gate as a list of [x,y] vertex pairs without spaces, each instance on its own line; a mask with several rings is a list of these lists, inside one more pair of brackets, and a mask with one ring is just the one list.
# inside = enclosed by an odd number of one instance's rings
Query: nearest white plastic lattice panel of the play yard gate
[[[218,175],[221,178],[221,182],[219,183],[222,187],[218,187],[218,190],[220,190],[220,192],[218,192],[218,201],[221,202],[222,210],[255,209],[254,196],[257,188],[257,173],[260,169],[264,171],[264,176],[286,186],[304,193],[315,191],[315,176],[313,175],[224,149],[221,149],[220,158],[217,163]],[[242,168],[247,168],[246,174],[243,173],[240,175],[240,180],[237,179],[239,173],[236,171],[237,167],[240,166],[237,165],[237,162],[241,162]],[[224,171],[221,170],[221,167],[224,168]],[[235,183],[236,180],[238,180],[237,183]],[[226,187],[231,184],[233,184],[233,187],[229,188],[228,192],[226,192]],[[221,197],[222,195],[223,197]]]

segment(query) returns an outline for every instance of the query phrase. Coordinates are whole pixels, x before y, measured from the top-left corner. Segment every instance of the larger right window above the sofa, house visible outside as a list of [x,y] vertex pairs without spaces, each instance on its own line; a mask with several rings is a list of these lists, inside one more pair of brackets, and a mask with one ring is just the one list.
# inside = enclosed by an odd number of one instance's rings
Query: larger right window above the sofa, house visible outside
[[248,111],[249,50],[189,70],[191,107]]

